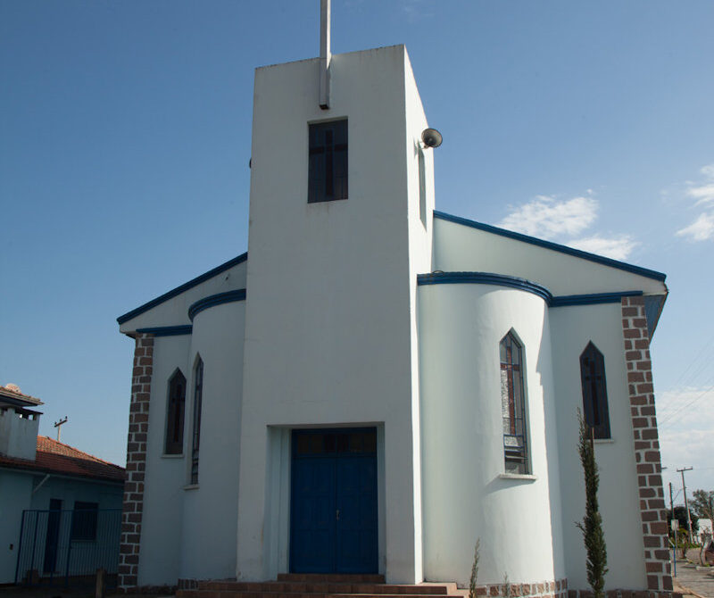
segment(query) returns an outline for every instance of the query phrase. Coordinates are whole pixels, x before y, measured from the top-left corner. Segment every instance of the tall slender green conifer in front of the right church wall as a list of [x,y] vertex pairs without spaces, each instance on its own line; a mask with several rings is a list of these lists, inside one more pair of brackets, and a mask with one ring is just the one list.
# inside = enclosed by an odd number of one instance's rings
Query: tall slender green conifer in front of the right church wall
[[600,484],[597,463],[595,462],[594,440],[591,428],[585,423],[583,414],[577,410],[580,424],[580,439],[577,452],[585,475],[585,517],[582,523],[576,523],[583,532],[585,551],[587,552],[587,583],[593,588],[594,598],[604,598],[605,574],[608,572],[608,553],[605,547],[605,535],[602,532],[602,517],[597,503],[597,486]]

